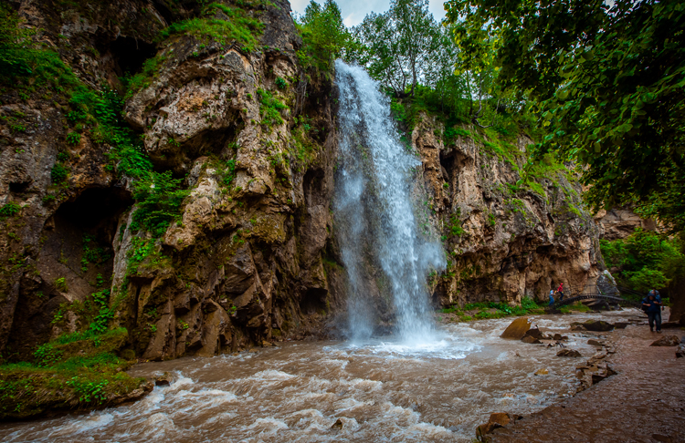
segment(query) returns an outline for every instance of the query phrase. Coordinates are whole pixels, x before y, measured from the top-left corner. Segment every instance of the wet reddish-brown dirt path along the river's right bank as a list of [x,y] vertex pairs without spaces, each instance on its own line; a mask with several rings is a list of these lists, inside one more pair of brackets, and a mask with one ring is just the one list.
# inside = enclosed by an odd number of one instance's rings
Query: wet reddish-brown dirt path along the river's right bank
[[[685,358],[675,347],[649,346],[662,335],[647,325],[605,333],[617,353],[617,371],[575,397],[497,429],[490,441],[504,442],[685,442]],[[581,363],[581,362],[579,362]]]

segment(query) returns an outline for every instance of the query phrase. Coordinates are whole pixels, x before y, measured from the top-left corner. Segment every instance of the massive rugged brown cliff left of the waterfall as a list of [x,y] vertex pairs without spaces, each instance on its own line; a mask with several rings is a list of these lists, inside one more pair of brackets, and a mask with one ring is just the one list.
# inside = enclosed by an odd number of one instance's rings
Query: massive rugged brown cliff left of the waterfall
[[[214,355],[308,334],[340,303],[329,283],[337,266],[327,272],[322,260],[332,82],[296,90],[305,73],[287,2],[238,3],[208,12],[192,1],[13,4],[79,88],[123,90],[121,78],[142,70],[123,116],[143,160],[189,194],[162,235],[135,229],[133,180],[93,125],[75,124],[75,93],[5,88],[0,206],[18,208],[0,233],[5,354],[29,355],[106,307],[142,358]],[[238,45],[195,32],[209,23],[192,21],[201,15],[213,26],[237,16],[251,36],[237,34]],[[184,26],[155,40],[172,23]]]

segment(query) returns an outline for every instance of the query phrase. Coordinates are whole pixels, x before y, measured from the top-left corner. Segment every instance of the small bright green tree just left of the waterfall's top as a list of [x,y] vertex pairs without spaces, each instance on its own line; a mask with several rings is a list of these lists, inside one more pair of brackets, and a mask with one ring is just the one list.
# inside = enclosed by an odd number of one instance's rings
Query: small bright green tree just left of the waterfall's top
[[334,60],[342,56],[350,40],[340,8],[333,0],[326,0],[323,6],[312,0],[296,25],[303,42],[297,52],[300,65],[316,76],[330,77]]

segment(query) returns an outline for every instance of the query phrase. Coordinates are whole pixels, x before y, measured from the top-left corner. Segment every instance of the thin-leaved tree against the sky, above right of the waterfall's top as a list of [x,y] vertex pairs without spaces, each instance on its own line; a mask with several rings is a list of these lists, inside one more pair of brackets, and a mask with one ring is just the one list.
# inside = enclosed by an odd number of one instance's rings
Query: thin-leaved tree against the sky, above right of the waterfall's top
[[393,0],[385,14],[366,15],[354,35],[361,48],[357,61],[396,97],[414,95],[439,47],[439,28],[427,0]]

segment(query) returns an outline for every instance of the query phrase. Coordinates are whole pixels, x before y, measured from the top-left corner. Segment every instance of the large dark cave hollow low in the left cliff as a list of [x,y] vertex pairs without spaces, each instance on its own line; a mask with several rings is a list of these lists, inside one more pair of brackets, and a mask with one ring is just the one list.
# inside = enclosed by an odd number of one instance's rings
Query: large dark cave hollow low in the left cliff
[[90,294],[109,289],[112,243],[121,214],[132,202],[121,188],[91,188],[62,203],[46,221],[35,270],[21,280],[10,349],[31,355],[56,328],[84,326],[79,309],[71,312],[71,306],[83,306]]

